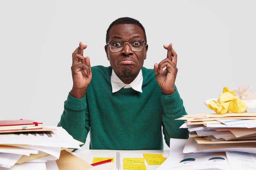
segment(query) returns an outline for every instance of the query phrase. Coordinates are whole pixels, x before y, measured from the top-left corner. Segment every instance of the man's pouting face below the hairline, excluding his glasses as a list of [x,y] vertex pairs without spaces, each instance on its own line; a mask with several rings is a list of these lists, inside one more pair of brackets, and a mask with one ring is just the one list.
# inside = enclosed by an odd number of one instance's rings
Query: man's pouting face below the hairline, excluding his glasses
[[[144,40],[143,30],[135,24],[114,25],[109,31],[109,42],[112,40],[128,41],[132,38]],[[148,44],[144,44],[141,51],[132,51],[128,43],[126,43],[124,49],[120,52],[111,51],[110,44],[105,46],[111,67],[117,76],[126,82],[133,81],[139,74],[146,59],[147,50]]]

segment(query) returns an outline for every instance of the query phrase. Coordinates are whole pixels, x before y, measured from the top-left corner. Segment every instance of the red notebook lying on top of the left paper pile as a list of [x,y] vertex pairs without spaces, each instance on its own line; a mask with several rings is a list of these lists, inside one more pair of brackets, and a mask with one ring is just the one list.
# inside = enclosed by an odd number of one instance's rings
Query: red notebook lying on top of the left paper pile
[[28,130],[28,129],[41,129],[42,124],[34,120],[0,120],[0,131],[3,130]]

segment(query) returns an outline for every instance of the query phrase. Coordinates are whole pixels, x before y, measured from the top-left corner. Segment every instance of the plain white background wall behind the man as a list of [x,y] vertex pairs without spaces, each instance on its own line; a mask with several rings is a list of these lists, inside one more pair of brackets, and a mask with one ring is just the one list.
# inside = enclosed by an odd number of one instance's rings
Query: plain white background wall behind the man
[[92,66],[109,66],[106,30],[126,16],[146,29],[144,66],[163,60],[172,42],[187,113],[212,113],[202,101],[223,87],[256,87],[255,9],[254,0],[1,0],[0,119],[56,126],[72,88],[74,49],[81,41]]

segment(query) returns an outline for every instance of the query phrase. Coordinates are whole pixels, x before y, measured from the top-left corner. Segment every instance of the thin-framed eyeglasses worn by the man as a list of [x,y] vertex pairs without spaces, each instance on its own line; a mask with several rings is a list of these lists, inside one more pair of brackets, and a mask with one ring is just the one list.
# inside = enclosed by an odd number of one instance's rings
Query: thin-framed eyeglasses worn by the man
[[110,45],[110,50],[112,52],[120,52],[124,49],[124,46],[126,43],[128,43],[128,45],[130,46],[130,49],[132,51],[141,51],[144,47],[144,44],[146,44],[146,42],[144,40],[141,40],[139,38],[132,38],[128,41],[112,40],[108,44]]

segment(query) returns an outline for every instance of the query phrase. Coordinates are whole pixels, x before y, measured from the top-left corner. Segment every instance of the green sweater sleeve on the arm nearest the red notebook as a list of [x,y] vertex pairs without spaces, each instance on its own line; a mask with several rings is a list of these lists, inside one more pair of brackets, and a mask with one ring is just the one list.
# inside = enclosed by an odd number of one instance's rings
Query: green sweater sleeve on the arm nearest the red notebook
[[70,94],[64,102],[64,111],[58,126],[62,126],[76,140],[85,143],[90,130],[90,116],[86,95],[76,99]]

